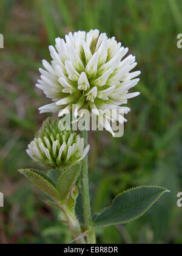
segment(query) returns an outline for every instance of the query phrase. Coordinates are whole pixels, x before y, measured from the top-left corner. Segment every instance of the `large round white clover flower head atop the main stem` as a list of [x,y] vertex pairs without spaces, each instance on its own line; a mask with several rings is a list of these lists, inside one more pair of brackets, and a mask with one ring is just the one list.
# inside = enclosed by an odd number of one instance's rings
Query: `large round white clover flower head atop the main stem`
[[[36,84],[53,103],[40,107],[40,113],[58,112],[62,116],[72,111],[72,104],[77,105],[75,115],[84,108],[96,110],[98,116],[106,108],[130,111],[123,104],[140,94],[129,93],[138,84],[140,79],[136,77],[140,71],[131,72],[137,63],[135,56],[125,57],[128,48],[121,46],[115,37],[99,34],[99,30],[70,32],[65,40],[55,41],[55,48],[49,47],[52,62],[42,61],[44,69],[39,69],[41,79]],[[123,123],[126,119],[119,114],[114,121]],[[112,131],[111,127],[105,128]]]

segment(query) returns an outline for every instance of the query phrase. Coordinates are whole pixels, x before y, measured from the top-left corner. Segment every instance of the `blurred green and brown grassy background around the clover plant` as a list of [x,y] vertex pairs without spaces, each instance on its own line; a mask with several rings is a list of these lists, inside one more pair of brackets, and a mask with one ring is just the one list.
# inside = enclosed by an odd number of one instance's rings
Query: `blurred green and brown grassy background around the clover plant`
[[146,215],[124,226],[97,229],[98,243],[182,243],[182,33],[181,0],[1,0],[0,33],[0,243],[69,243],[72,235],[60,213],[17,169],[37,167],[25,154],[48,115],[49,103],[35,88],[49,44],[69,31],[99,29],[115,36],[136,55],[141,95],[129,101],[132,112],[124,137],[91,132],[90,193],[93,212],[136,185],[161,185],[172,191]]

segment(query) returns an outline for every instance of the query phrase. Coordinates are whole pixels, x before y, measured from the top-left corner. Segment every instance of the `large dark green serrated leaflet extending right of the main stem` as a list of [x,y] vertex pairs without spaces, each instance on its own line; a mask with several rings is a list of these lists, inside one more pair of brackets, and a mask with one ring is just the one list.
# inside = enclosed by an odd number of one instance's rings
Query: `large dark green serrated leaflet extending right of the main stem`
[[143,215],[164,193],[166,188],[143,186],[124,191],[115,197],[110,207],[93,216],[93,225],[106,227],[124,224]]

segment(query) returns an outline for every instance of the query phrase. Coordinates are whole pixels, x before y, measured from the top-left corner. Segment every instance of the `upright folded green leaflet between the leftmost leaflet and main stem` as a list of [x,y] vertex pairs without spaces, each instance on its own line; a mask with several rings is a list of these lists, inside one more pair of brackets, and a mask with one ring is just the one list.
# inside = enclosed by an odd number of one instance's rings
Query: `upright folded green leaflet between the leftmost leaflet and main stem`
[[81,173],[81,163],[76,163],[71,167],[65,168],[58,179],[58,190],[61,194],[61,201],[64,202],[70,194],[70,190],[75,185]]

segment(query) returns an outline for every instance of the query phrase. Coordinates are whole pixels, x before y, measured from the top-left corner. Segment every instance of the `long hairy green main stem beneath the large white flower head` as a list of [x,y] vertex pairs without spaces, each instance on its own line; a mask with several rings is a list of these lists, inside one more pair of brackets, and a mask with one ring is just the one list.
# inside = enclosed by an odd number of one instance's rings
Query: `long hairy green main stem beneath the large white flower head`
[[[87,130],[83,130],[81,132],[84,138],[84,146],[86,147],[88,144],[88,132]],[[88,244],[95,244],[95,229],[92,225],[92,215],[90,210],[90,196],[89,196],[89,175],[88,175],[88,156],[83,159],[83,171],[81,174],[81,195],[83,202],[83,214],[84,214],[84,225],[85,229],[89,230],[87,236]]]

